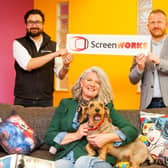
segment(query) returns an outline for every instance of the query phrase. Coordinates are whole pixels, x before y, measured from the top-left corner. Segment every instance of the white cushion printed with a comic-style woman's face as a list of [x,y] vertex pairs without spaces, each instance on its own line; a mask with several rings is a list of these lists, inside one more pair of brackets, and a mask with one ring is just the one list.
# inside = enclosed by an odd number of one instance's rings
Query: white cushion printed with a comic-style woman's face
[[[151,156],[160,164],[168,166],[168,115],[140,112],[142,134]],[[147,142],[148,141],[148,142]]]

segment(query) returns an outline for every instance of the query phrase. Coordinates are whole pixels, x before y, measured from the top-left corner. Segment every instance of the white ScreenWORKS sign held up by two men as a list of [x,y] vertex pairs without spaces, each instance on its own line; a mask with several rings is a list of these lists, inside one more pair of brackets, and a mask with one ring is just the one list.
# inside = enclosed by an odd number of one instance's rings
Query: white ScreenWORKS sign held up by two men
[[147,54],[151,49],[151,38],[149,35],[68,34],[67,49],[77,54]]

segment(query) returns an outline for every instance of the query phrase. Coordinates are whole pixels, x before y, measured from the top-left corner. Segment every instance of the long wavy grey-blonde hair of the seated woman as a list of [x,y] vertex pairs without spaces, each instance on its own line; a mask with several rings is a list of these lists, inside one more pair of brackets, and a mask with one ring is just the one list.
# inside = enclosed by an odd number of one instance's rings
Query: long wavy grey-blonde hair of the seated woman
[[95,72],[100,80],[100,91],[98,96],[96,97],[98,100],[102,100],[105,104],[112,101],[112,88],[109,82],[109,79],[106,73],[99,67],[90,67],[86,69],[75,82],[72,87],[72,95],[75,99],[81,100],[82,99],[82,88],[80,81],[81,79],[85,79],[86,75],[89,72]]

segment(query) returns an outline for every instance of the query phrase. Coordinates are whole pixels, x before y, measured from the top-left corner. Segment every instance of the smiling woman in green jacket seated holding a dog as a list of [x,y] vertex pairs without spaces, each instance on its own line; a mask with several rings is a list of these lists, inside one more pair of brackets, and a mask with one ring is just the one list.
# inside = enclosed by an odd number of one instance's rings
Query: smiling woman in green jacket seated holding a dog
[[[107,156],[106,161],[88,156],[85,146],[87,141],[94,146],[102,147],[108,142],[124,145],[138,136],[138,131],[124,119],[113,107],[112,90],[104,71],[98,67],[85,70],[72,87],[73,98],[63,99],[46,132],[45,142],[57,149],[56,168],[112,168],[115,158]],[[120,131],[111,134],[99,134],[87,137],[87,122],[78,122],[80,104],[99,99],[110,110],[113,124]],[[86,138],[87,137],[87,138]]]

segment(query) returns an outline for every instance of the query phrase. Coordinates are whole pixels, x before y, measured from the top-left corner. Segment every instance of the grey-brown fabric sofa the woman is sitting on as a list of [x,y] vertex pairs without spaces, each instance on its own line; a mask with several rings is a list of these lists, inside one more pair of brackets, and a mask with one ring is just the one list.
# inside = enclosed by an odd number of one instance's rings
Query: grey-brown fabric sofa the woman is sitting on
[[[0,118],[5,120],[12,111],[19,114],[35,131],[40,139],[44,138],[46,129],[52,119],[55,107],[23,107],[20,105],[11,105],[0,103]],[[140,132],[139,110],[118,110],[125,118],[127,118]],[[148,109],[146,112],[161,112],[168,114],[168,108],[162,109]],[[0,148],[0,157],[7,155],[7,153]],[[38,157],[47,160],[54,160],[54,155],[49,153],[49,146],[44,142],[33,152],[29,154],[33,157]],[[164,168],[165,166],[144,163],[141,168]]]

